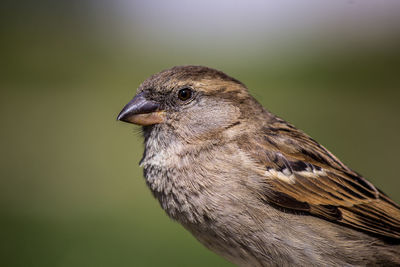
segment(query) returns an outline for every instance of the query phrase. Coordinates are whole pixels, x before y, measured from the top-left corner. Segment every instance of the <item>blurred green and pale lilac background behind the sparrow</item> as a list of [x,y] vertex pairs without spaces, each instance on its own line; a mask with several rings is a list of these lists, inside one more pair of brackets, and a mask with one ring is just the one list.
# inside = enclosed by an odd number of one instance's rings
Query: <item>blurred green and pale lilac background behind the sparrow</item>
[[232,266],[146,188],[116,121],[174,65],[221,69],[400,201],[400,1],[2,1],[0,264]]

